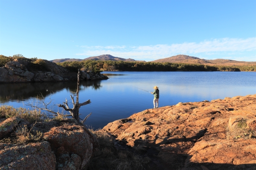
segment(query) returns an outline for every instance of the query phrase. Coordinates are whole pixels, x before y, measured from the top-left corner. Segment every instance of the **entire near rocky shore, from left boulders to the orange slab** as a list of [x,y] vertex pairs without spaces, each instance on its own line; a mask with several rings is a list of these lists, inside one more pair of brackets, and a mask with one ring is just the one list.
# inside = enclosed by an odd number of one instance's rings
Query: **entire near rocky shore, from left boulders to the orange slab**
[[[93,133],[75,119],[31,124],[3,113],[0,110],[0,169],[101,169],[97,166],[109,159],[108,152],[116,155],[109,164],[121,160],[117,166],[127,168],[132,161],[125,164],[127,155],[119,150],[138,155],[135,169],[256,168],[256,94],[147,109]],[[20,128],[29,130],[33,140],[13,142]],[[101,144],[95,134],[105,134]],[[110,134],[116,140],[107,142]]]

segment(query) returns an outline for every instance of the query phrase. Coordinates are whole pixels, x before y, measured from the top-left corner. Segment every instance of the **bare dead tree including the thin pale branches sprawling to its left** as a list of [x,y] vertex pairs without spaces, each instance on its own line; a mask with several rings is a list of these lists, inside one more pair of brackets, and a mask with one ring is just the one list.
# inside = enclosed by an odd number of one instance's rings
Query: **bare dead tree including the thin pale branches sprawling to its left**
[[[86,119],[87,119],[92,113],[88,114],[88,115],[82,120],[82,119],[80,119],[80,117],[79,117],[79,115],[80,115],[80,114],[79,114],[79,108],[80,108],[81,106],[90,104],[91,102],[90,102],[90,99],[89,99],[89,100],[87,100],[86,102],[79,103],[79,82],[80,82],[80,79],[79,79],[79,78],[80,78],[80,74],[79,74],[79,70],[78,70],[78,74],[77,74],[77,90],[76,90],[76,103],[75,103],[75,101],[74,101],[74,95],[73,95],[73,96],[70,95],[71,100],[72,100],[72,103],[73,103],[73,108],[70,108],[70,107],[68,106],[67,98],[66,98],[66,101],[63,102],[64,105],[59,104],[58,107],[61,107],[61,108],[63,108],[65,111],[69,111],[69,112],[70,112],[69,115],[62,115],[62,116],[72,116],[74,119],[76,119],[77,122],[80,122],[80,120],[81,120],[81,123],[84,123],[84,122],[86,121]],[[40,94],[40,96],[43,98],[43,100],[42,100],[41,102],[39,102],[39,103],[40,103],[41,105],[43,105],[44,108],[39,107],[38,105],[33,105],[33,104],[29,104],[29,106],[31,106],[32,108],[37,108],[37,109],[40,109],[40,110],[48,111],[48,112],[54,114],[55,116],[61,115],[61,113],[52,111],[52,109],[47,108],[47,107],[49,106],[49,104],[52,102],[51,96],[50,96],[50,102],[48,102],[48,103],[45,102],[43,94]]]

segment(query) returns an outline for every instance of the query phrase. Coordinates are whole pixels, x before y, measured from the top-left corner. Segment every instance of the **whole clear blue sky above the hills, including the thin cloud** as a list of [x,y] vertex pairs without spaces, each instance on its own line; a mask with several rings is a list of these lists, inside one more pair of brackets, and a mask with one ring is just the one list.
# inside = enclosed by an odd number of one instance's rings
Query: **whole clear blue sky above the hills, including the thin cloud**
[[256,0],[0,0],[0,54],[256,61]]

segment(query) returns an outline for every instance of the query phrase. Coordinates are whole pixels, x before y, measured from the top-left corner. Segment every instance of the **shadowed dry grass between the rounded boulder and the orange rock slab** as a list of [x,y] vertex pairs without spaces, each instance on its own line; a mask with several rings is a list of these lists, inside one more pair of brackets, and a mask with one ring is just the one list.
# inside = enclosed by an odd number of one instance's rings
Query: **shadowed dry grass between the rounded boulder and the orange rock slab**
[[116,144],[113,136],[103,130],[92,130],[100,147],[88,170],[143,170],[144,160],[131,150]]

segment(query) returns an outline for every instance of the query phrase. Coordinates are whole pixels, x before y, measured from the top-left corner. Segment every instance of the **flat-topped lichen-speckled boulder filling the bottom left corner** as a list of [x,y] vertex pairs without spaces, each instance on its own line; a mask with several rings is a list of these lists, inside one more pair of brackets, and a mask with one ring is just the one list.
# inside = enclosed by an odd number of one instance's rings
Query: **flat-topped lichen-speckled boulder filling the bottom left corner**
[[1,170],[55,170],[56,159],[49,142],[27,145],[0,143]]

